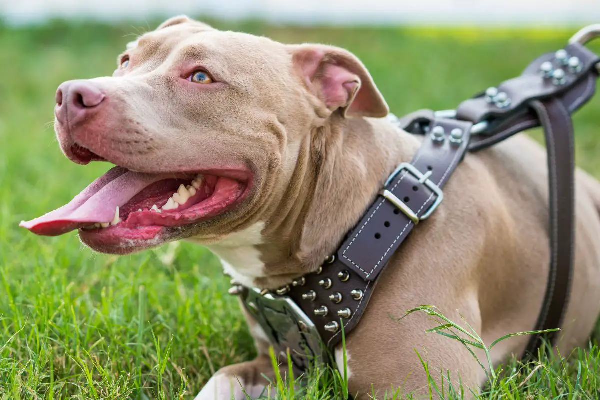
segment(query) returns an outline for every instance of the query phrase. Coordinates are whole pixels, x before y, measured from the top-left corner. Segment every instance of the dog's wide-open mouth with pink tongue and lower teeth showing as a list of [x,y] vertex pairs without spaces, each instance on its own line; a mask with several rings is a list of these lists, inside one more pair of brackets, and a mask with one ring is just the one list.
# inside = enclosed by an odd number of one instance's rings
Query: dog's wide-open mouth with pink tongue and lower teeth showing
[[92,248],[146,247],[164,234],[199,224],[232,209],[248,182],[226,173],[148,174],[115,167],[70,203],[21,226],[58,236],[79,229]]

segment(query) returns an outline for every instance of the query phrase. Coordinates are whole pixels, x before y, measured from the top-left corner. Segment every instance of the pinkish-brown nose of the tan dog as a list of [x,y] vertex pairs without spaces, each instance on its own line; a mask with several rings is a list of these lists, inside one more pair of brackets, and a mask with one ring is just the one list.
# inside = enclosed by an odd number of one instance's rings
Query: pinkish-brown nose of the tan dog
[[63,83],[56,91],[56,117],[63,124],[73,124],[96,112],[106,96],[85,80]]

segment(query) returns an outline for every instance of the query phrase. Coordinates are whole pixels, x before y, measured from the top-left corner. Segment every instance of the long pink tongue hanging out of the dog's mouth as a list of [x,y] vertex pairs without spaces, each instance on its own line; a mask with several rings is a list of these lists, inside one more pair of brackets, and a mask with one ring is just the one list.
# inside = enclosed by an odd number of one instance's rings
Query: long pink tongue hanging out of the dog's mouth
[[115,167],[89,185],[75,199],[40,218],[21,222],[35,234],[58,236],[95,222],[112,222],[122,207],[144,188],[165,179],[161,175],[131,172]]

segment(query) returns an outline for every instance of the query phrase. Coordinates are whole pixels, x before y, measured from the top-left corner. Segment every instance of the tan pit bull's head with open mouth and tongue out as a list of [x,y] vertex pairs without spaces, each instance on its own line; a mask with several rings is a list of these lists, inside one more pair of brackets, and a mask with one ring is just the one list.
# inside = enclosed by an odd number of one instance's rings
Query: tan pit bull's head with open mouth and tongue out
[[176,17],[130,43],[112,77],[58,88],[64,154],[117,167],[22,226],[48,236],[79,229],[88,246],[116,254],[218,240],[272,208],[316,128],[387,113],[346,50]]

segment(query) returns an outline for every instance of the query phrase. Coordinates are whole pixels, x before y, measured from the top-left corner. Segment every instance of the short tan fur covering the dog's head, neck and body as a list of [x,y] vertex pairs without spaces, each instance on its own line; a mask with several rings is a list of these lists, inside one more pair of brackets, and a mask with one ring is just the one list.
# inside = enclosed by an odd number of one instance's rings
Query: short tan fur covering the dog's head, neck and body
[[[306,52],[324,55],[317,62],[356,77],[347,86],[346,104],[332,109],[323,100],[323,77],[302,76],[306,69],[299,63]],[[316,269],[358,222],[388,174],[419,147],[416,137],[385,119],[350,118],[382,116],[387,106],[367,70],[345,50],[286,46],[178,17],[144,35],[128,54],[127,70],[94,80],[112,101],[110,118],[91,122],[77,140],[142,172],[249,166],[256,176],[244,203],[170,240],[218,245],[264,224],[254,246],[263,270],[252,277],[260,287],[278,287]],[[226,84],[211,91],[178,86],[182,66],[194,62]],[[352,110],[357,98],[360,107]],[[462,345],[425,333],[434,323],[423,315],[392,317],[433,304],[454,320],[464,315],[488,344],[533,329],[548,274],[547,226],[541,146],[521,135],[467,155],[446,187],[444,203],[394,255],[347,338],[350,392],[366,398],[395,386],[425,395],[427,379],[415,351],[433,371],[449,370],[455,381],[460,375],[477,390],[485,375]],[[600,313],[600,184],[580,171],[576,233],[562,354],[585,343]],[[494,363],[520,354],[527,340],[509,339],[494,348]],[[257,344],[259,359],[218,375],[242,377],[252,387],[265,384],[260,374],[272,371],[265,343],[259,338]]]

